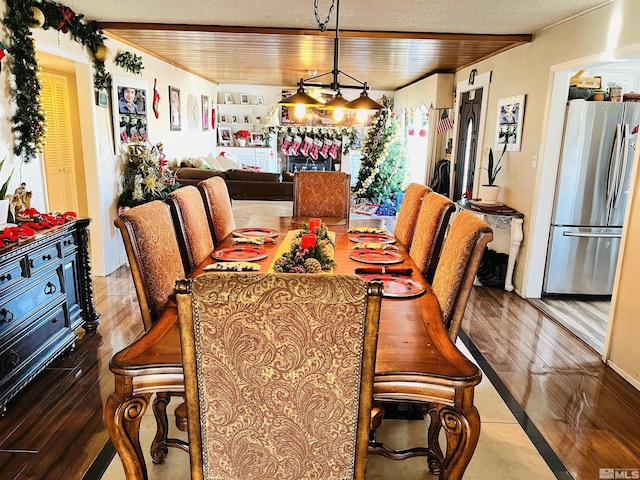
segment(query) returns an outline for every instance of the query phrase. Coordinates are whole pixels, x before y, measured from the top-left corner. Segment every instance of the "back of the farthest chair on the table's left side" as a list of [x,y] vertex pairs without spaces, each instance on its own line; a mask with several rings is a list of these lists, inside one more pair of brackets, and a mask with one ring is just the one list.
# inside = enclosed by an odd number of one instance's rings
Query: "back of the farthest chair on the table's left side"
[[213,243],[218,246],[236,229],[227,184],[221,177],[212,177],[198,183],[213,232]]

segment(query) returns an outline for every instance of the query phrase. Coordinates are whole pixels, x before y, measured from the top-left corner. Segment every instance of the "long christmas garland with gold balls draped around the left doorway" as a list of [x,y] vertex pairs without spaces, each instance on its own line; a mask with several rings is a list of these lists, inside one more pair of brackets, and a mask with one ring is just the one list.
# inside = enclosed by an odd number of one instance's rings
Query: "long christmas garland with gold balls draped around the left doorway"
[[31,28],[41,26],[54,28],[89,48],[94,57],[94,85],[97,89],[106,87],[109,74],[105,71],[104,61],[109,49],[104,45],[106,39],[95,21],[85,22],[84,16],[76,14],[61,3],[47,0],[7,0],[7,14],[3,19],[9,33],[9,68],[12,77],[10,93],[15,99],[16,110],[12,117],[12,130],[15,135],[14,153],[22,155],[28,163],[41,152],[46,136],[46,118],[40,103],[41,68],[31,35]]

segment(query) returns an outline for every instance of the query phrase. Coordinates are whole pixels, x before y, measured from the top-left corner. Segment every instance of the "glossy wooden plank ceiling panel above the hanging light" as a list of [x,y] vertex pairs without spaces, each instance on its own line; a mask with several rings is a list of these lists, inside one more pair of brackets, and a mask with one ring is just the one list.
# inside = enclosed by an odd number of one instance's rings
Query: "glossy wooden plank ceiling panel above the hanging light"
[[[100,23],[105,34],[221,83],[294,86],[333,69],[335,31]],[[373,90],[394,91],[436,72],[455,72],[530,42],[531,35],[340,31],[338,68]],[[331,75],[317,81],[330,83]],[[341,76],[340,83],[354,84]]]

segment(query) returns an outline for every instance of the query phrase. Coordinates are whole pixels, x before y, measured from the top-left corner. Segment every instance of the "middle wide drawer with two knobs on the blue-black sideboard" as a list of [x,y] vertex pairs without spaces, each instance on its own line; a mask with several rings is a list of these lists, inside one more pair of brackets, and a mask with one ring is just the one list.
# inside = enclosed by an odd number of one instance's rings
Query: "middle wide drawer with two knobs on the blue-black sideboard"
[[60,269],[61,267],[58,267],[48,272],[47,275],[36,279],[27,290],[20,290],[17,295],[13,294],[4,299],[4,303],[0,306],[0,338],[46,303],[64,299]]

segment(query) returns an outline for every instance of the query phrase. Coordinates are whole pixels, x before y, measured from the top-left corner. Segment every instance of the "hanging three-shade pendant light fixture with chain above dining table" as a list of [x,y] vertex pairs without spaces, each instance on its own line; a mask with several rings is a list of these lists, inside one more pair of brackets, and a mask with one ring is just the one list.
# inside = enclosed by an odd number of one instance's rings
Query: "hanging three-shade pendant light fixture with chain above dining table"
[[[333,70],[326,73],[321,73],[320,75],[313,75],[309,78],[301,78],[300,82],[298,82],[298,91],[285,99],[279,102],[279,105],[283,106],[295,106],[298,107],[300,105],[304,105],[305,107],[322,107],[326,109],[350,109],[350,110],[381,110],[383,107],[378,102],[369,98],[367,94],[367,90],[369,89],[367,82],[361,82],[357,78],[352,77],[351,75],[343,72],[338,68],[339,65],[339,51],[340,51],[340,38],[339,38],[339,19],[340,19],[340,0],[332,0],[331,6],[329,7],[329,13],[327,14],[327,18],[324,22],[320,21],[320,16],[318,14],[318,0],[313,1],[313,10],[316,16],[316,22],[318,24],[318,28],[320,28],[321,32],[327,30],[327,24],[329,23],[329,17],[331,16],[331,12],[336,10],[336,35],[333,40]],[[333,81],[331,83],[311,83],[312,80],[319,79],[321,77],[332,75]],[[340,75],[348,77],[350,80],[355,82],[355,84],[348,83],[340,83]],[[313,98],[311,95],[305,93],[304,87],[317,87],[317,88],[330,88],[335,91],[336,94],[334,97],[329,100],[326,104],[320,102],[320,100]],[[345,88],[354,88],[358,90],[362,90],[360,93],[360,97],[356,98],[349,102],[345,98],[342,97],[340,93],[341,89]]]

